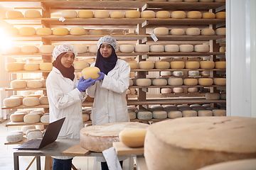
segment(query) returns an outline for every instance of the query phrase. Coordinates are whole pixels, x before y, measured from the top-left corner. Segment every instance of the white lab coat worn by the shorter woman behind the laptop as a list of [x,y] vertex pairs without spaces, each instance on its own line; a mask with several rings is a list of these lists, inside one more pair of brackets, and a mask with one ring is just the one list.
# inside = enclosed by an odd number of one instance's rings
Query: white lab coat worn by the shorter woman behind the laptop
[[[78,79],[74,81],[63,77],[58,69],[53,67],[46,79],[46,89],[50,108],[50,122],[65,117],[58,138],[80,138],[82,123],[82,102],[87,97],[76,87]],[[55,157],[57,159],[70,159],[72,157]]]

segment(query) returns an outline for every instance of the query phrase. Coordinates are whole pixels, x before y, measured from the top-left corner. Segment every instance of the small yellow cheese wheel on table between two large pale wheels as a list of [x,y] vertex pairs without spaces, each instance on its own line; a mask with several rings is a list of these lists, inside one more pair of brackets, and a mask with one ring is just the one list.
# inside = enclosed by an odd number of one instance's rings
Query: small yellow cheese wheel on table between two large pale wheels
[[119,132],[119,140],[127,147],[143,147],[146,129],[130,128]]

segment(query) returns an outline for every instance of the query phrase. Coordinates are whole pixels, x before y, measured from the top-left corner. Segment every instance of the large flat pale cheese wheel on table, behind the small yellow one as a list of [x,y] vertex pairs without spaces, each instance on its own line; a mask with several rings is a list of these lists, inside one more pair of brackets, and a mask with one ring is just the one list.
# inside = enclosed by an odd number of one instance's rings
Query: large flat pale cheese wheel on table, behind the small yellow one
[[92,125],[80,130],[81,147],[93,152],[102,152],[119,141],[119,132],[130,128],[148,128],[145,123],[123,122]]

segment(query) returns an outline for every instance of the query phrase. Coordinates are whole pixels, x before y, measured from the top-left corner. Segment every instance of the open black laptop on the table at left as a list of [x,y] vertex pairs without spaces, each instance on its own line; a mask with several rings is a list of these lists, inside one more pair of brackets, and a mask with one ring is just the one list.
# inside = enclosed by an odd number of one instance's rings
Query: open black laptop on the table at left
[[43,138],[28,140],[27,142],[14,147],[14,149],[41,149],[46,145],[49,145],[57,139],[64,120],[65,118],[61,118],[52,123],[49,123]]

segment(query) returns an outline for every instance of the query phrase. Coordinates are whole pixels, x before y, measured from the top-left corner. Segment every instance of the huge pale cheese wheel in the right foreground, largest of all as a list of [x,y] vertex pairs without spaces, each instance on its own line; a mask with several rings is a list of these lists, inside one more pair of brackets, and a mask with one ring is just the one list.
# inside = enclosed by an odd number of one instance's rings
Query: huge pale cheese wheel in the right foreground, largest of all
[[256,118],[230,116],[154,123],[149,125],[144,142],[146,166],[149,170],[193,170],[256,158],[256,142],[252,142],[256,141],[255,126]]

